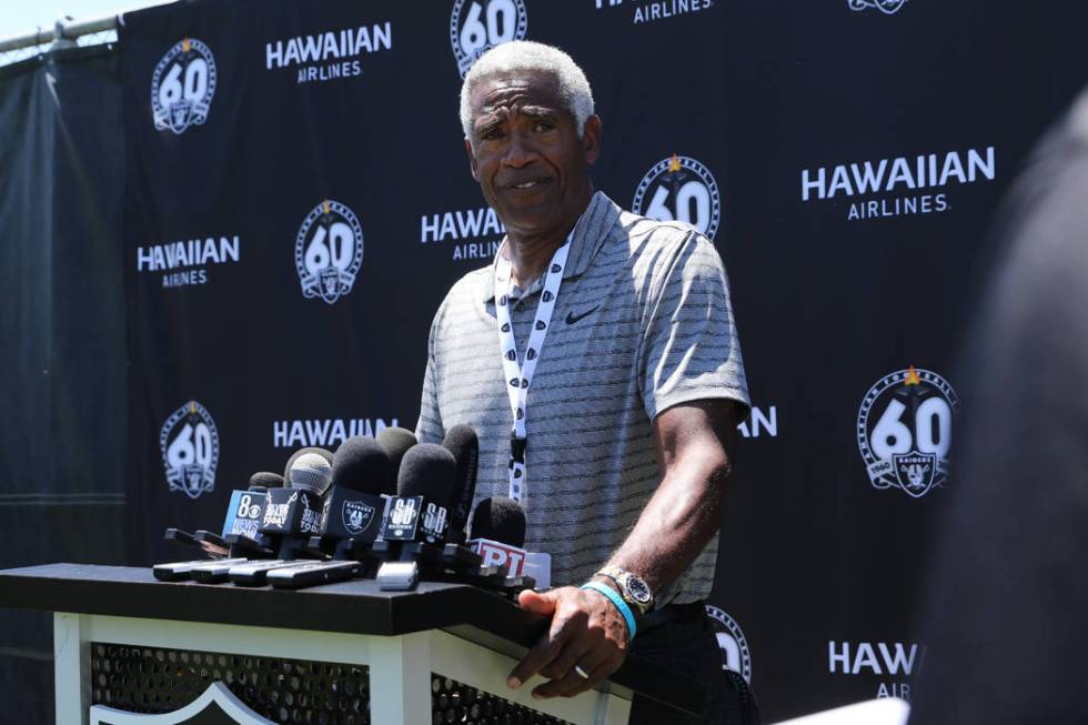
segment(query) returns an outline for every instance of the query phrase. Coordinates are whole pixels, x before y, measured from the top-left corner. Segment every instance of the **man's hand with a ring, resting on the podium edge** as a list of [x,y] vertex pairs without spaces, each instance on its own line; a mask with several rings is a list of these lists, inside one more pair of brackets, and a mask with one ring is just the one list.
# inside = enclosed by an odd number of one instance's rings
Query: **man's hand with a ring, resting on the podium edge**
[[[530,612],[551,616],[552,626],[510,673],[506,684],[511,688],[541,674],[551,682],[533,689],[533,697],[574,697],[623,664],[627,655],[627,623],[600,592],[574,586],[543,593],[525,590],[517,603]],[[575,665],[588,678],[575,672]]]

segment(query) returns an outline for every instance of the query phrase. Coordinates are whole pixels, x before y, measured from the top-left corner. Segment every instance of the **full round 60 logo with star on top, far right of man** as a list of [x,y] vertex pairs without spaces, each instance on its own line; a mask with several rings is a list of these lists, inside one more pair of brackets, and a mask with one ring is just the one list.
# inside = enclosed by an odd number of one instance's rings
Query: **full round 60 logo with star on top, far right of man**
[[857,416],[857,446],[873,485],[920,499],[944,484],[958,410],[956,391],[933,371],[911,365],[880,379]]

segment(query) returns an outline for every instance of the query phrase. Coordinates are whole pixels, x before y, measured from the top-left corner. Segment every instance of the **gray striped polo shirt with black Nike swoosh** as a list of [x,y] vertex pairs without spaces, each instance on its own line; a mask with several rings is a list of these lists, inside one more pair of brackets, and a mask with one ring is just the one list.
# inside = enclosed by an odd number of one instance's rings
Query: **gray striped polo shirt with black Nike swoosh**
[[[543,279],[514,290],[518,354]],[[513,422],[495,322],[494,266],[462,278],[431,325],[416,435],[440,442],[466,424],[480,436],[476,503],[510,495]],[[563,285],[528,391],[525,506],[528,551],[552,555],[553,586],[606,563],[649,501],[657,467],[652,421],[681,403],[748,406],[728,280],[691,226],[622,211],[594,194],[574,230]],[[705,598],[717,535],[658,602]]]

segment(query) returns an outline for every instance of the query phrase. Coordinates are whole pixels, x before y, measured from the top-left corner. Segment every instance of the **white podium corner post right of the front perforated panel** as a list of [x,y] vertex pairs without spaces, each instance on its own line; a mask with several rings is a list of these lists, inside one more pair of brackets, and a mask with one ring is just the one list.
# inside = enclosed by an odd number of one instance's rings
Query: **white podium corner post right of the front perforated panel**
[[431,725],[431,643],[426,632],[370,638],[370,719]]

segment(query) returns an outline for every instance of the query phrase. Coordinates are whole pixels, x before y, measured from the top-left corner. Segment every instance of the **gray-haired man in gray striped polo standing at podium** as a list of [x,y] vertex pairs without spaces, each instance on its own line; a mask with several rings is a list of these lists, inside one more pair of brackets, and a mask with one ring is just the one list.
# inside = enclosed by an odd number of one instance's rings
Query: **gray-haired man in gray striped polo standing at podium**
[[526,547],[552,555],[558,588],[520,596],[552,625],[508,685],[540,674],[534,696],[573,696],[632,646],[709,683],[721,655],[702,601],[748,410],[721,259],[691,226],[594,193],[601,120],[562,51],[488,51],[461,120],[507,233],[435,315],[417,436],[472,425],[477,499],[520,500]]

